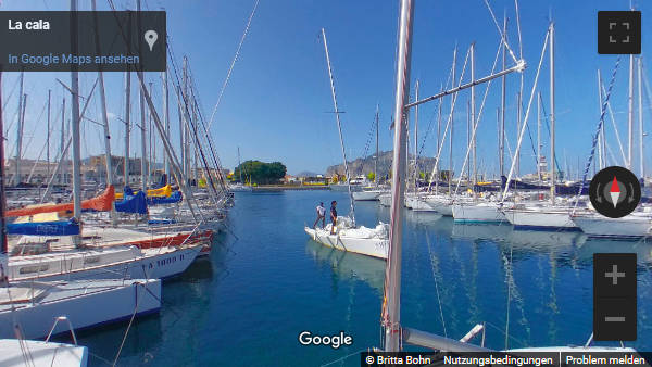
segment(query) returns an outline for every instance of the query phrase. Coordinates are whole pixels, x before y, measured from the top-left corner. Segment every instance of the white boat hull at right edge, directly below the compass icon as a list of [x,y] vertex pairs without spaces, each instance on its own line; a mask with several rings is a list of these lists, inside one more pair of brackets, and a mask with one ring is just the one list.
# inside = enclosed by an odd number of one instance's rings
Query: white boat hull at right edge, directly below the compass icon
[[650,215],[607,218],[601,215],[575,216],[573,222],[589,237],[642,238],[650,236]]

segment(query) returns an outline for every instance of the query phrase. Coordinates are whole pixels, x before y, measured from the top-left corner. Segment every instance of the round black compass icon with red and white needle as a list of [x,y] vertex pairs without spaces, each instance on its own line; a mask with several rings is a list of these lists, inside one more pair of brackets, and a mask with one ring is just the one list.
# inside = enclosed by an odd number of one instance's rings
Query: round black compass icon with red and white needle
[[598,213],[620,218],[634,212],[641,200],[641,185],[628,169],[612,166],[600,170],[589,187],[591,204]]

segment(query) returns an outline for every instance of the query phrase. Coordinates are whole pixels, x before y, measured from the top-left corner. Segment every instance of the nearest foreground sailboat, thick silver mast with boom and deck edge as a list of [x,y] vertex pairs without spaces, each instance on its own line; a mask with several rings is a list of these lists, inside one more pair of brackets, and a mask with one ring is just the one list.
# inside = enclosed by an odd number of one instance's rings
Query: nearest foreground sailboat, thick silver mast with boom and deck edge
[[[402,266],[402,225],[403,210],[402,201],[405,191],[405,181],[401,178],[405,172],[404,151],[405,151],[405,124],[409,109],[415,104],[425,103],[434,100],[437,96],[413,103],[405,103],[410,90],[410,64],[412,28],[414,20],[414,1],[401,0],[399,2],[399,37],[397,52],[397,75],[396,75],[396,105],[394,121],[399,122],[394,129],[394,156],[392,163],[392,206],[391,206],[391,226],[390,226],[390,248],[386,265],[385,294],[381,306],[381,326],[384,352],[401,352],[403,344],[412,344],[428,350],[441,352],[490,352],[491,350],[484,345],[475,345],[468,341],[480,333],[482,325],[476,325],[469,333],[461,340],[454,340],[447,337],[437,336],[414,328],[409,328],[401,324],[401,266]],[[503,36],[503,35],[501,35]],[[504,36],[502,41],[506,45]],[[503,71],[504,73],[504,71]],[[509,350],[506,352],[626,352],[634,353],[630,347],[606,347],[591,346],[593,338],[589,338],[584,346],[551,346],[551,347],[528,347],[521,350]],[[484,343],[482,343],[484,344]],[[376,350],[378,351],[378,350]]]

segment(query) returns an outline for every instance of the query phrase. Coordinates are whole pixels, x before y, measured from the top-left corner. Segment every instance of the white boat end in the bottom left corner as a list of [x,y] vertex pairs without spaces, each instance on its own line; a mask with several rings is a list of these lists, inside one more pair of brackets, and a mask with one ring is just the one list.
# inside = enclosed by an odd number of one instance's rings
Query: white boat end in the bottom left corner
[[[23,347],[29,351],[29,359],[25,359]],[[85,367],[87,364],[86,346],[37,340],[0,339],[0,366],[3,367]]]

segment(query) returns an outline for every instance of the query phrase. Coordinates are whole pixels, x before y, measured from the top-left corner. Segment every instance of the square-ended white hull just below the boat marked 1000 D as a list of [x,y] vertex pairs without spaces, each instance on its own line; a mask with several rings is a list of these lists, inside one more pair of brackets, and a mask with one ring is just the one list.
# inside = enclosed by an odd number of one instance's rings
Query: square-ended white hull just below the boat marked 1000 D
[[[25,289],[16,289],[18,286]],[[8,289],[12,289],[13,305],[8,302]],[[42,293],[32,298],[32,289]],[[16,302],[20,299],[23,302]],[[12,284],[0,289],[0,338],[14,338],[14,320],[24,338],[39,339],[48,336],[60,316],[66,316],[75,329],[90,328],[128,320],[134,314],[155,313],[161,308],[160,300],[159,279]],[[67,322],[59,322],[53,334],[66,332],[67,328]]]

